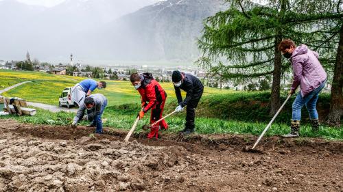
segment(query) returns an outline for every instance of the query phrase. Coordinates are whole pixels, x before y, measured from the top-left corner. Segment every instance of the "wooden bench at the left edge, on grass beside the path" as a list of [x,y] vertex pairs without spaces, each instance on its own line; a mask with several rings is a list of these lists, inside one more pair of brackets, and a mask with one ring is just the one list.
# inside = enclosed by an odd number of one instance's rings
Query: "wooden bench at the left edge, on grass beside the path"
[[0,96],[0,103],[3,103],[5,105],[3,111],[10,114],[16,114],[16,110],[14,109],[15,106],[16,109],[18,109],[18,115],[36,115],[36,109],[28,108],[26,100],[23,100],[21,98],[14,98],[14,102],[12,103],[12,105],[10,105],[10,99],[11,98]]

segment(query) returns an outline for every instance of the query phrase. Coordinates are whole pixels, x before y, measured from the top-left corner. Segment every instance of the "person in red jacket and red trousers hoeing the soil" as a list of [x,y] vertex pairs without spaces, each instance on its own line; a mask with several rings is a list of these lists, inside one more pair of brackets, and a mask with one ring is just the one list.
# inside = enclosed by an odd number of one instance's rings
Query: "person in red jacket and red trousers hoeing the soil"
[[[161,85],[154,79],[154,77],[152,77],[151,73],[133,73],[130,76],[130,81],[139,94],[141,94],[142,110],[139,112],[139,119],[142,119],[144,114],[150,109],[152,109],[150,124],[153,124],[157,120],[161,119],[163,109],[165,107],[165,100],[167,99],[167,94]],[[167,129],[167,122],[162,120],[155,126],[152,126],[147,138],[151,139],[156,137],[157,139],[159,128]]]

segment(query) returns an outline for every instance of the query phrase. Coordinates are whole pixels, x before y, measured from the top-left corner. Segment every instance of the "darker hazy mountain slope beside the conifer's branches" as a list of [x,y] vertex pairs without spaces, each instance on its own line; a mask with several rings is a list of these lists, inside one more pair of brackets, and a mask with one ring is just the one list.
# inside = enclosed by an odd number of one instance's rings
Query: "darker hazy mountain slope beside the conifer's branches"
[[204,18],[226,8],[222,0],[158,2],[106,25],[98,42],[105,45],[106,59],[193,61]]

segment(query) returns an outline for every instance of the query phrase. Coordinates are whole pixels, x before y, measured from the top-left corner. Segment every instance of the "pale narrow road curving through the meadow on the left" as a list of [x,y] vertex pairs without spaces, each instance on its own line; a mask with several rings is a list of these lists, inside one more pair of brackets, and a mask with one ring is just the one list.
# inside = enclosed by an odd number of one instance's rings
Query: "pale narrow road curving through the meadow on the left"
[[[31,81],[21,82],[21,83],[18,83],[16,85],[12,85],[10,87],[7,87],[7,88],[5,88],[3,90],[0,90],[0,96],[4,92],[8,92],[9,90],[11,90],[11,89],[13,89],[15,87],[18,87],[20,85],[23,85],[23,84],[29,83],[29,82],[31,82]],[[65,112],[68,112],[68,113],[76,113],[76,111],[78,111],[77,109],[67,109],[67,108],[58,107],[58,106],[55,106],[55,105],[47,105],[47,104],[40,103],[40,102],[27,102],[27,105],[32,106],[32,107],[36,107],[36,108],[40,108],[40,109],[45,109],[45,110],[51,111],[53,113],[57,113],[57,112],[60,112],[60,111],[65,111]]]

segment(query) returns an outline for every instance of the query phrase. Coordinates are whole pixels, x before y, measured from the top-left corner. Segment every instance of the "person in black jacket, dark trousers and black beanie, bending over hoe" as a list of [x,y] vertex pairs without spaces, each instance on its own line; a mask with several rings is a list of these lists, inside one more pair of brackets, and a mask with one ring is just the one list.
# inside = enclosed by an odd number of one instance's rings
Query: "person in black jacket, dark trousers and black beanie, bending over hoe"
[[[175,70],[171,75],[171,80],[174,83],[174,89],[176,97],[178,98],[178,107],[176,111],[180,112],[185,106],[187,106],[186,124],[183,134],[188,135],[194,132],[196,107],[204,92],[204,85],[201,81],[191,74],[185,74],[178,70]],[[187,92],[185,100],[182,100],[181,90]]]

